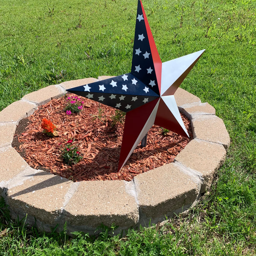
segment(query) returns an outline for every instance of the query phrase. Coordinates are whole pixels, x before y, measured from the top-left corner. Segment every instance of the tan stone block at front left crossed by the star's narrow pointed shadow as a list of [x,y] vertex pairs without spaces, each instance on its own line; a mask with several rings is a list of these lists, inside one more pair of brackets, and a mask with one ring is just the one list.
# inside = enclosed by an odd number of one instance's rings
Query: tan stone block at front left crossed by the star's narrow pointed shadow
[[65,196],[73,182],[39,171],[20,186],[8,190],[9,206],[15,212],[26,212],[48,224],[61,214]]

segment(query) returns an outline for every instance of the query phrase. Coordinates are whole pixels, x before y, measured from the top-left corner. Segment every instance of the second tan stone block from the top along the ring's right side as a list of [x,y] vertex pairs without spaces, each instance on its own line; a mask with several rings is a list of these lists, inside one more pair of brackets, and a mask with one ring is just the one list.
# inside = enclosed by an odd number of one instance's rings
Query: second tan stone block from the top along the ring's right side
[[192,115],[215,115],[215,108],[208,102],[198,104],[187,104],[180,107],[182,112],[191,120]]

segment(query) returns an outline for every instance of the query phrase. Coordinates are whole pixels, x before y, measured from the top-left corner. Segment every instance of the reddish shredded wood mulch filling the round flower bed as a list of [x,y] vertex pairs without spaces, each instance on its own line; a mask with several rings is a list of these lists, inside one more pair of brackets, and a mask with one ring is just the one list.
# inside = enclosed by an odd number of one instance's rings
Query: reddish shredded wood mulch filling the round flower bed
[[[117,172],[124,120],[119,120],[113,126],[114,108],[80,98],[84,108],[78,114],[67,115],[64,111],[67,97],[63,96],[40,106],[29,116],[28,122],[25,122],[25,131],[20,133],[17,128],[13,146],[29,166],[73,181],[130,181],[140,173],[173,162],[175,156],[189,143],[189,139],[174,132],[164,135],[162,129],[154,125],[148,131],[146,147],[140,148],[138,145],[125,166]],[[189,137],[192,137],[189,119],[182,113],[181,116]],[[42,133],[43,118],[50,119],[57,126],[58,137],[48,137]],[[73,143],[83,154],[83,159],[73,166],[67,166],[61,158],[61,150],[70,139],[74,139]]]

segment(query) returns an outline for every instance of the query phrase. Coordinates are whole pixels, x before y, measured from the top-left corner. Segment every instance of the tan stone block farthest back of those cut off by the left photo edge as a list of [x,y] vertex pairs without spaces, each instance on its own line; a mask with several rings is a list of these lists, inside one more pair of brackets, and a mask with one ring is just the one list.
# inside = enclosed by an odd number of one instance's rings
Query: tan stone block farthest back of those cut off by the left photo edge
[[36,104],[19,100],[13,102],[0,112],[0,122],[20,122],[21,119],[26,118],[34,113]]

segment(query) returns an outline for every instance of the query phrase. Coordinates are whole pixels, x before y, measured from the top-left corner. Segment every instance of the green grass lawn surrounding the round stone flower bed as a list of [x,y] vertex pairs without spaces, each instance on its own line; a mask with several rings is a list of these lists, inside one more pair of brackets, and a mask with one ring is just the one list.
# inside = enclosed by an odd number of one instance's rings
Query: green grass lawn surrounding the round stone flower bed
[[[89,237],[12,221],[1,255],[256,255],[256,1],[144,0],[162,61],[206,49],[182,88],[209,102],[231,145],[212,189],[157,229]],[[26,93],[131,69],[137,0],[1,0],[0,110]]]

